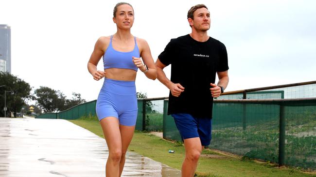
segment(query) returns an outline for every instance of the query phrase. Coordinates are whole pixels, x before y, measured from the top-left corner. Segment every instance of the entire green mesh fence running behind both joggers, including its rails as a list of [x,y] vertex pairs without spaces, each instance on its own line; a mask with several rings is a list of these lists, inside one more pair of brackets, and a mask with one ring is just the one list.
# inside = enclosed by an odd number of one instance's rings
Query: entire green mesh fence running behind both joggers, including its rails
[[[209,147],[316,170],[315,97],[316,81],[226,93],[214,100]],[[95,115],[95,103],[37,118]],[[138,99],[136,130],[163,131],[164,138],[181,141],[167,107],[165,98]]]

